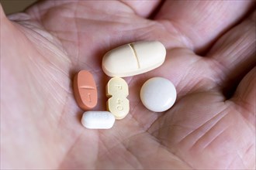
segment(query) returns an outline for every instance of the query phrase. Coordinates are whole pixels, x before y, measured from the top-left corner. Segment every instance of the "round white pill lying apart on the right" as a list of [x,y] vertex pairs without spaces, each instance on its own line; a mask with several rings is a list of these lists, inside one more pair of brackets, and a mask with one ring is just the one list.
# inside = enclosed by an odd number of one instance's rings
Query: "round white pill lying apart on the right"
[[140,100],[148,110],[161,112],[175,104],[176,89],[170,80],[154,77],[147,80],[140,90]]

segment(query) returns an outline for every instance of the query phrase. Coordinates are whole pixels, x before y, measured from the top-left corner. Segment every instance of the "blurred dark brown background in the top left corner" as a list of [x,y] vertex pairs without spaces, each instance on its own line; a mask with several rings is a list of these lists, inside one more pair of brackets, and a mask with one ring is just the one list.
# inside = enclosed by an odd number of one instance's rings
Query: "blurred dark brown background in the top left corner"
[[22,12],[26,7],[36,2],[36,0],[0,0],[5,14]]

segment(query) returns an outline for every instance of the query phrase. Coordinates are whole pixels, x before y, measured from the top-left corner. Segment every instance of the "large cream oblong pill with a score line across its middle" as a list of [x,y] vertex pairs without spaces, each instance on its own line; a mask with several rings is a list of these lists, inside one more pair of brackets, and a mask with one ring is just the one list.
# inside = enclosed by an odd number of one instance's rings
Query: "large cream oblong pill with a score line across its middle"
[[161,42],[133,42],[112,49],[103,56],[102,70],[108,76],[135,76],[164,63],[166,49]]

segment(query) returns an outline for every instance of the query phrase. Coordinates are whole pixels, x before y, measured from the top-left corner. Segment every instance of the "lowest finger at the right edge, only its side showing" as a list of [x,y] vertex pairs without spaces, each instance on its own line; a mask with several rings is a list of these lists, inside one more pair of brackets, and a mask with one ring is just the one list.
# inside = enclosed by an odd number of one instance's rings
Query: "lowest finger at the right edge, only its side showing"
[[256,67],[244,77],[231,99],[237,104],[237,110],[255,126],[256,107]]

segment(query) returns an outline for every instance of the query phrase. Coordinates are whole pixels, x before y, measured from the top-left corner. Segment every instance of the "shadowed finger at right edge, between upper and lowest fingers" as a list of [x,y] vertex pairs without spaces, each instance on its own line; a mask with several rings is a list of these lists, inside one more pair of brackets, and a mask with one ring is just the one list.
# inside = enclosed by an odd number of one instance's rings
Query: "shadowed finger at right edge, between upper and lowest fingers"
[[256,12],[223,35],[207,54],[212,59],[217,83],[223,87],[227,97],[256,63],[255,15]]

